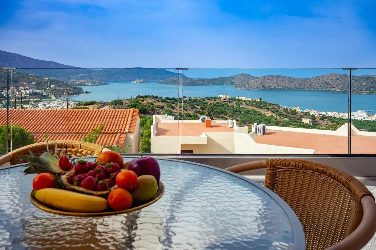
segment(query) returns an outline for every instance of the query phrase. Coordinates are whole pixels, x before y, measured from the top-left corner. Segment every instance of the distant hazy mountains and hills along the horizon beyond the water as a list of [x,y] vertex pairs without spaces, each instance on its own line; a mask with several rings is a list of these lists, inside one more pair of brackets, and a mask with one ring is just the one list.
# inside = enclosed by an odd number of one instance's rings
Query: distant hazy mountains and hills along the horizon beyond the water
[[[20,72],[56,78],[62,81],[71,79],[91,79],[99,82],[158,81],[158,84],[179,84],[179,74],[165,69],[124,68],[124,69],[82,69],[75,66],[43,61],[23,55],[0,51],[0,66],[28,68],[18,69]],[[304,90],[347,90],[348,75],[327,74],[312,78],[294,78],[281,75],[255,77],[249,74],[238,74],[218,78],[188,78],[183,76],[183,85],[235,85],[243,89],[304,89]],[[355,93],[376,93],[376,75],[352,76],[352,90]]]

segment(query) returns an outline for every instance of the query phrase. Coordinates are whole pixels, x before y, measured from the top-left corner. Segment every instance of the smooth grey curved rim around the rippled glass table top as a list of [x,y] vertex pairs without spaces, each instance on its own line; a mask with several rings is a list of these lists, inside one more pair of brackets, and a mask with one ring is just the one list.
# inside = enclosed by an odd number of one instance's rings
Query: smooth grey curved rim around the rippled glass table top
[[[85,157],[80,157],[80,158],[96,158],[96,157],[97,156],[85,156]],[[141,156],[122,156],[122,157],[123,158],[141,158]],[[267,187],[261,185],[260,183],[254,181],[254,180],[251,180],[250,178],[244,177],[243,175],[236,174],[236,173],[227,171],[225,169],[217,168],[217,167],[214,167],[214,166],[209,166],[209,165],[205,165],[205,164],[202,164],[202,163],[196,163],[196,162],[188,162],[188,161],[185,161],[185,160],[164,158],[164,157],[154,157],[154,158],[157,159],[157,160],[168,160],[168,161],[171,161],[171,162],[182,162],[182,163],[187,163],[187,164],[191,164],[191,165],[197,165],[197,166],[202,166],[202,167],[205,167],[205,168],[210,168],[210,169],[217,170],[217,171],[232,175],[234,177],[240,178],[240,179],[247,181],[248,183],[253,184],[254,186],[258,187],[259,189],[261,189],[262,191],[267,193],[271,198],[273,198],[274,201],[276,201],[280,205],[280,207],[285,211],[288,219],[291,222],[291,226],[293,228],[294,249],[295,250],[305,249],[305,234],[304,234],[303,226],[300,223],[299,218],[297,217],[295,212],[292,210],[292,208],[282,198],[280,198],[276,193],[274,193],[273,191],[271,191]],[[3,166],[3,167],[0,167],[0,171],[5,170],[5,169],[9,169],[9,168],[17,168],[17,167],[20,167],[20,166],[23,166],[23,165],[26,165],[26,163],[20,163],[20,164],[11,165],[11,166]]]

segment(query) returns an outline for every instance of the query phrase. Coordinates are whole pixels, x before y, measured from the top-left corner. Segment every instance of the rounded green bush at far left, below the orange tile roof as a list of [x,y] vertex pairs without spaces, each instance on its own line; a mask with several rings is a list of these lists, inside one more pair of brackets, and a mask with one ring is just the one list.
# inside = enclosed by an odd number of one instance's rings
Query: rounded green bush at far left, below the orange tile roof
[[[11,130],[9,127],[8,150],[11,150]],[[35,143],[30,131],[23,127],[13,126],[12,128],[12,150]],[[6,125],[0,127],[0,153],[6,153]]]

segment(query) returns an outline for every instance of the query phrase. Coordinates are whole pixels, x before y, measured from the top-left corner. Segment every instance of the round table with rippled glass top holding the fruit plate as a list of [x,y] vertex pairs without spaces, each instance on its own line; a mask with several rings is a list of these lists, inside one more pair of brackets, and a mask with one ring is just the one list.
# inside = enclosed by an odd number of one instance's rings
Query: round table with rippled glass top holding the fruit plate
[[305,249],[299,219],[271,190],[223,169],[157,159],[162,198],[108,217],[39,210],[29,200],[35,175],[1,168],[0,249]]

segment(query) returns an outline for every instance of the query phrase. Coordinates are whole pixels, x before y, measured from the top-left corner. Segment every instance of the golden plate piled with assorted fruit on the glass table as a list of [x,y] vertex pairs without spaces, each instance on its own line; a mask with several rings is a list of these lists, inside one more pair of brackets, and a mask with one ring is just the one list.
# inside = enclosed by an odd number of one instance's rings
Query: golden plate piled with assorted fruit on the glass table
[[67,216],[129,213],[158,201],[164,193],[161,171],[153,157],[125,162],[114,151],[93,161],[48,152],[19,156],[29,162],[24,174],[37,174],[30,201],[41,210]]

